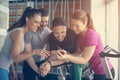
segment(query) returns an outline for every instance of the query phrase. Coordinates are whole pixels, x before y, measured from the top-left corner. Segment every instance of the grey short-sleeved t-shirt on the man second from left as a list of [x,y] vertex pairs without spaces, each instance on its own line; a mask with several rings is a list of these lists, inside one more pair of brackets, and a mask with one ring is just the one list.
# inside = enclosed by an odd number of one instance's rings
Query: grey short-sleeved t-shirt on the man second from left
[[[28,32],[25,34],[25,44],[31,44],[33,49],[45,49],[45,44],[47,42],[48,35],[51,33],[51,30],[48,27],[45,27],[42,32]],[[44,58],[33,55],[35,62],[42,61]]]

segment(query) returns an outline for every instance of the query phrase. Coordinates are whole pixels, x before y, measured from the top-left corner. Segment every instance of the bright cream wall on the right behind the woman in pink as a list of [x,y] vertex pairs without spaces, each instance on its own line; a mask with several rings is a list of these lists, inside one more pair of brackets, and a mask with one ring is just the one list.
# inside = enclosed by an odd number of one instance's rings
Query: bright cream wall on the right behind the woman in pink
[[[104,45],[118,50],[118,0],[105,6],[104,0],[91,0],[91,15]],[[118,59],[110,58],[115,68],[115,79],[118,80]]]

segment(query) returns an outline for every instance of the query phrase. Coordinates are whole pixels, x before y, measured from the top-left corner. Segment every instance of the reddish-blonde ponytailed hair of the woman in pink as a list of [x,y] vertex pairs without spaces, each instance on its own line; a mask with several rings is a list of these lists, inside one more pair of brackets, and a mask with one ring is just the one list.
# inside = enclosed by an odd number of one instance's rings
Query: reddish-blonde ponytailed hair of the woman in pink
[[90,17],[90,15],[87,12],[85,12],[83,10],[76,10],[72,14],[71,19],[80,20],[83,24],[85,22],[87,22],[87,27],[95,30],[92,18]]

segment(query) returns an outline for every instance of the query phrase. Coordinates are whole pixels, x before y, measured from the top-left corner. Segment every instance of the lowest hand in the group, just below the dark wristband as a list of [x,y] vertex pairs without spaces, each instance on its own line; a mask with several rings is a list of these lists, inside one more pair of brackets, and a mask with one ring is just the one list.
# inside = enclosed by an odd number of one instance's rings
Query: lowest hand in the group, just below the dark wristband
[[45,62],[39,67],[39,73],[41,76],[46,76],[51,69],[51,64],[49,62]]

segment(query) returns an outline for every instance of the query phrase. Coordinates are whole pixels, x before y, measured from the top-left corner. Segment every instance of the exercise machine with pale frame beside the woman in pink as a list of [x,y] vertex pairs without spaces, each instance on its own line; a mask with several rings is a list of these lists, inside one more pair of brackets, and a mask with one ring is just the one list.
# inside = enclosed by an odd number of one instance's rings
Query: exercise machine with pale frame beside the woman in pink
[[[116,53],[116,54],[112,54],[111,52]],[[106,75],[107,80],[113,80],[112,73],[111,73],[110,68],[108,66],[107,57],[119,58],[120,52],[116,51],[115,49],[113,49],[109,46],[106,46],[104,48],[104,50],[100,53],[100,57],[101,57],[103,66],[105,68],[105,75]]]

